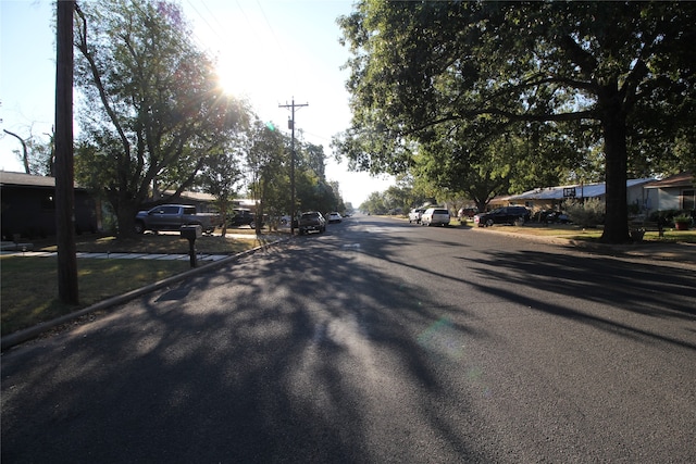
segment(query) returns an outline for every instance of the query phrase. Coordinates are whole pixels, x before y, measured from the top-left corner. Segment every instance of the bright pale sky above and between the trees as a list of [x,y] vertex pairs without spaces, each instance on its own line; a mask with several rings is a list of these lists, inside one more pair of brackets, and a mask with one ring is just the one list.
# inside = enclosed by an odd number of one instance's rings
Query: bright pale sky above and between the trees
[[[96,0],[87,0],[96,1]],[[192,39],[219,61],[229,92],[249,101],[256,114],[287,130],[296,108],[296,135],[324,147],[326,176],[337,180],[345,201],[359,206],[393,179],[350,173],[333,161],[331,139],[350,124],[349,58],[338,43],[345,0],[179,0]],[[28,138],[47,139],[53,125],[55,37],[52,0],[0,0],[0,126]],[[0,170],[23,172],[14,151],[20,141],[0,133]]]

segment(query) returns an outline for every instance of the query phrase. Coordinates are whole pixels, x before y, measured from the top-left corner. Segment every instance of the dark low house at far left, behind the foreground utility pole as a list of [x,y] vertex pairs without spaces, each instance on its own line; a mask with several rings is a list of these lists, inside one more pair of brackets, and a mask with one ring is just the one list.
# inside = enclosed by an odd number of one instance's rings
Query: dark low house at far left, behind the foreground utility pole
[[[55,178],[0,172],[2,240],[55,235]],[[86,189],[75,186],[75,231],[96,233],[97,210]]]

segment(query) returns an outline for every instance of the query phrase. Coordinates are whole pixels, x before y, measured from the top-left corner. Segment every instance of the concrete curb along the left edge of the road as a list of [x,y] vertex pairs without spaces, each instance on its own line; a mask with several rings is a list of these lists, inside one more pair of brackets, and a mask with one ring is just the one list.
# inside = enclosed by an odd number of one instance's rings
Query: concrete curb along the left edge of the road
[[187,277],[191,277],[191,276],[195,276],[195,275],[198,275],[198,274],[203,274],[203,273],[206,273],[208,271],[211,271],[211,269],[213,269],[215,267],[221,267],[221,266],[223,266],[225,264],[235,262],[235,261],[239,260],[240,258],[244,258],[244,256],[247,256],[247,255],[250,255],[250,254],[254,254],[258,251],[263,251],[266,248],[270,248],[270,247],[272,247],[274,244],[278,244],[281,242],[288,241],[288,240],[290,240],[290,238],[284,238],[284,239],[272,241],[270,243],[261,244],[261,246],[252,248],[250,250],[243,251],[243,252],[237,253],[237,254],[233,254],[233,255],[231,255],[228,258],[225,258],[223,260],[214,261],[214,262],[212,262],[210,264],[206,264],[204,266],[194,267],[194,268],[191,268],[189,271],[186,271],[186,272],[183,272],[181,274],[167,277],[165,279],[156,281],[153,284],[146,285],[145,287],[137,288],[135,290],[130,290],[130,291],[128,291],[126,293],[119,294],[116,297],[108,298],[105,300],[102,300],[102,301],[100,301],[98,303],[92,304],[91,306],[83,308],[82,310],[72,312],[70,314],[65,314],[65,315],[57,317],[54,319],[47,321],[45,323],[37,324],[37,325],[33,326],[33,327],[25,328],[23,330],[18,330],[18,331],[15,331],[13,334],[5,335],[4,337],[2,337],[0,339],[0,352],[1,351],[5,351],[5,350],[8,350],[8,349],[10,349],[12,347],[15,347],[15,346],[20,344],[20,343],[24,343],[25,341],[32,340],[32,339],[38,337],[39,335],[44,334],[45,331],[48,331],[48,330],[52,329],[53,327],[58,327],[59,325],[69,323],[71,321],[79,318],[79,317],[82,317],[82,316],[84,316],[86,314],[92,313],[95,311],[104,310],[104,309],[108,309],[110,306],[114,306],[116,304],[125,303],[125,302],[127,302],[129,300],[133,300],[133,299],[135,299],[137,297],[140,297],[142,294],[149,293],[151,291],[154,291],[154,290],[157,290],[159,288],[166,287],[167,285],[174,284],[174,283],[176,283],[178,280],[183,280],[183,279],[185,279]]

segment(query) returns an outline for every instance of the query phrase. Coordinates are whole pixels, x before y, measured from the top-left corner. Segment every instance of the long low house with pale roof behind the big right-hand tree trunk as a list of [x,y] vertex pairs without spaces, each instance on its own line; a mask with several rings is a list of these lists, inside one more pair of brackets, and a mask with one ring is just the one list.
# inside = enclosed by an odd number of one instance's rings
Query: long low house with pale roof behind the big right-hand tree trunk
[[[626,195],[629,204],[636,205],[638,211],[649,210],[654,202],[650,191],[644,187],[655,181],[652,178],[629,179],[626,181]],[[597,199],[604,201],[607,196],[605,183],[573,184],[557,187],[536,188],[524,193],[507,197],[508,204],[524,205],[534,212],[560,211],[564,201]],[[655,195],[652,195],[655,196]]]

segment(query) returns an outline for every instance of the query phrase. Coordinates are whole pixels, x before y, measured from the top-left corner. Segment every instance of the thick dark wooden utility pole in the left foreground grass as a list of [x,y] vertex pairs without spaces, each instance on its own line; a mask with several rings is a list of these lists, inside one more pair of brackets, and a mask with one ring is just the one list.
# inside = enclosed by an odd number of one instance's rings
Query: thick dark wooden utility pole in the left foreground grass
[[73,14],[75,1],[57,3],[55,26],[55,239],[58,296],[77,304],[75,173],[73,171]]

